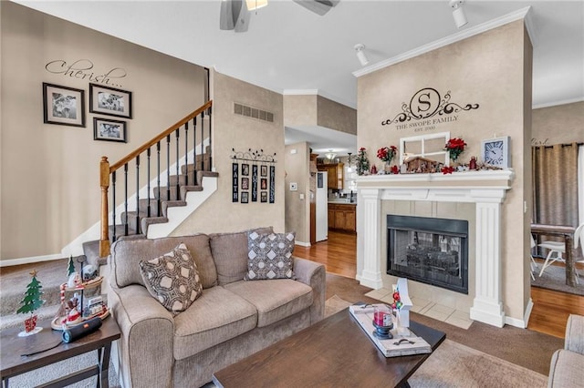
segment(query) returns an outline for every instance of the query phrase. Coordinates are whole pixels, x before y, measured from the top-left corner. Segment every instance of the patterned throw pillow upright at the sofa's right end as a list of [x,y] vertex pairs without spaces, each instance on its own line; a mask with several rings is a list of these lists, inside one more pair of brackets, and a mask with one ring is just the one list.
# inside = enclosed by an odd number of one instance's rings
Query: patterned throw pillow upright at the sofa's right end
[[296,232],[247,234],[247,272],[245,281],[296,279],[293,271]]

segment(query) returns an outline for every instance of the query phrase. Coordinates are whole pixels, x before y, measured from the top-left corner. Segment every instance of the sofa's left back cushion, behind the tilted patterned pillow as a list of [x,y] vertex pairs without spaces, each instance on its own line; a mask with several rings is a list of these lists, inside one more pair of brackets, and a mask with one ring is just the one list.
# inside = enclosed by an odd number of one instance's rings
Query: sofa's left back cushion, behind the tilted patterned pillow
[[117,287],[125,287],[130,284],[145,286],[140,273],[140,261],[162,256],[181,242],[186,245],[193,256],[203,289],[216,285],[217,271],[213,256],[211,256],[209,236],[206,234],[152,240],[117,240],[111,246],[110,257],[113,285]]

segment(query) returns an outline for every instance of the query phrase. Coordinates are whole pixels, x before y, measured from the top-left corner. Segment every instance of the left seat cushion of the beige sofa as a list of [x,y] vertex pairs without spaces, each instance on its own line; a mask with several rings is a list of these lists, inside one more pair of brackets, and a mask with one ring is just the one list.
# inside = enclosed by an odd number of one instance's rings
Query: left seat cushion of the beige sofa
[[174,358],[193,354],[249,332],[257,323],[254,305],[223,287],[203,290],[191,307],[174,319]]

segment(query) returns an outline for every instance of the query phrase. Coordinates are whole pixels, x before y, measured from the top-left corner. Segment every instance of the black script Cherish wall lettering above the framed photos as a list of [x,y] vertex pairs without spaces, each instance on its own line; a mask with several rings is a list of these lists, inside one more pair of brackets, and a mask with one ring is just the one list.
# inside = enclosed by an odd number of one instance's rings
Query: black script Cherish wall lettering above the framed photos
[[45,69],[52,74],[62,74],[64,77],[89,80],[110,87],[121,87],[120,79],[128,76],[128,72],[121,67],[113,67],[110,71],[100,73],[93,70],[93,62],[89,59],[78,59],[68,64],[64,59],[47,62]]

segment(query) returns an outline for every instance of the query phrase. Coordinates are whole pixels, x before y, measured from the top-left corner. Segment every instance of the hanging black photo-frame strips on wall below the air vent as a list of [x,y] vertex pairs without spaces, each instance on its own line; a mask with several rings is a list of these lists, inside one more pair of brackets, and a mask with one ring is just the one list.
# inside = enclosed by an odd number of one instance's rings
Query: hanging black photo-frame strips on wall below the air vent
[[252,148],[246,151],[235,151],[235,148],[231,150],[231,158],[234,159],[232,202],[257,202],[259,198],[262,203],[275,203],[276,152],[267,154],[263,149],[254,151]]

